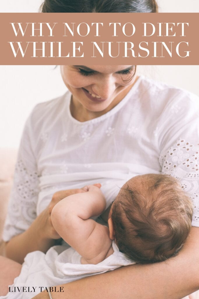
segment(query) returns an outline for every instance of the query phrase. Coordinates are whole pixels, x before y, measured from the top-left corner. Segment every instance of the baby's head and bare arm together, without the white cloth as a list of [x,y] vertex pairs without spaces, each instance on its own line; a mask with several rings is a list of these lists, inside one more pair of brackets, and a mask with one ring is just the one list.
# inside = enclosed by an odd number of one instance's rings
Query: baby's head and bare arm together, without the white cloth
[[155,263],[174,256],[186,242],[192,203],[171,176],[135,176],[121,188],[108,215],[107,228],[90,219],[103,212],[101,185],[85,187],[52,210],[58,234],[81,255],[81,264],[98,264],[113,254],[112,241],[127,259]]

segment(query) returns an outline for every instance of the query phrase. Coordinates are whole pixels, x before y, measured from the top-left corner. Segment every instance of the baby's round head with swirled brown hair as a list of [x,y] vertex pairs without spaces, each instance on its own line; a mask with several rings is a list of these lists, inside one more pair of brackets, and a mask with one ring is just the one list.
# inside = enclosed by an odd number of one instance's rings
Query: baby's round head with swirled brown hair
[[135,262],[155,263],[175,255],[185,243],[192,203],[173,177],[146,174],[124,184],[110,216],[119,250]]

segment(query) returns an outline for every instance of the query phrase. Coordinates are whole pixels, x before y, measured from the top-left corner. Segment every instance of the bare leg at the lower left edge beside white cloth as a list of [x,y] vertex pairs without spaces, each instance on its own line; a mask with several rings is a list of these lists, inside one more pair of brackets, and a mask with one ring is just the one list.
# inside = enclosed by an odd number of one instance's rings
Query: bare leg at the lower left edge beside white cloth
[[8,286],[12,285],[14,278],[21,272],[21,265],[7,257],[0,256],[0,296],[5,296],[9,291]]

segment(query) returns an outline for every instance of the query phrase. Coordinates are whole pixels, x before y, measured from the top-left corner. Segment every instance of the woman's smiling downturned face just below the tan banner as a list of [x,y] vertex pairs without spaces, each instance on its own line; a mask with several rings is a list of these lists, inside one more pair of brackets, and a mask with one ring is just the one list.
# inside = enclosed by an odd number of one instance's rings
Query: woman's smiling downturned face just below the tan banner
[[61,65],[72,93],[72,111],[102,115],[117,105],[135,81],[134,65]]

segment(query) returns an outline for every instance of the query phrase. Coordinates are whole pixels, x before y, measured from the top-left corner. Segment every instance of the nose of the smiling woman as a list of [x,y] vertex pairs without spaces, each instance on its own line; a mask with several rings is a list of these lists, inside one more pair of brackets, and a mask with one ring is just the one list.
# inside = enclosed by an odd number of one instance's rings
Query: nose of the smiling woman
[[115,78],[111,75],[99,79],[92,85],[92,91],[102,99],[108,99],[114,93],[115,88]]

